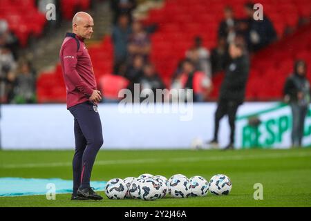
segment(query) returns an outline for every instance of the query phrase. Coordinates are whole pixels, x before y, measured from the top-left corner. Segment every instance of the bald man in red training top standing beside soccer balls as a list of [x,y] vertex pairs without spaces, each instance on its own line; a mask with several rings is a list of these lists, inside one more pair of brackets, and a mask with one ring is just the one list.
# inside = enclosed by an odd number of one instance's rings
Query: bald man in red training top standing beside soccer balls
[[84,44],[90,39],[94,22],[91,15],[78,12],[73,17],[73,32],[59,52],[67,92],[67,109],[74,117],[75,155],[73,157],[73,195],[71,200],[102,200],[90,186],[95,157],[103,144],[102,124],[97,104],[102,99],[97,90],[91,57]]

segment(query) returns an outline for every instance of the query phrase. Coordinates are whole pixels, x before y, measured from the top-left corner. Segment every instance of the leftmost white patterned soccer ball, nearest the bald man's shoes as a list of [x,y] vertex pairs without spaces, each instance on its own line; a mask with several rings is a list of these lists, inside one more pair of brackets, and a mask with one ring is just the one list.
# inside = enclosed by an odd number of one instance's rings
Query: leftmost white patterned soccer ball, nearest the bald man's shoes
[[111,200],[124,199],[127,191],[127,186],[120,178],[109,180],[106,183],[105,193]]

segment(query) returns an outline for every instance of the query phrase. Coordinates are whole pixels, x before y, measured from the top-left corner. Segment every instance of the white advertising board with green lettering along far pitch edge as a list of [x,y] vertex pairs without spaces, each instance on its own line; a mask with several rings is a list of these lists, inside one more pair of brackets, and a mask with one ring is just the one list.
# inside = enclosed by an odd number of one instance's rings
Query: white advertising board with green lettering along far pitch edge
[[[111,149],[191,148],[211,140],[215,103],[193,104],[165,112],[157,104],[152,110],[118,104],[100,104],[104,146]],[[249,118],[260,119],[259,126]],[[251,120],[252,122],[256,122]],[[236,118],[237,148],[288,148],[292,117],[290,108],[275,102],[247,102]],[[73,149],[73,117],[65,104],[1,105],[1,148]],[[220,146],[229,142],[227,117],[220,122]],[[311,112],[305,120],[303,145],[311,144]]]

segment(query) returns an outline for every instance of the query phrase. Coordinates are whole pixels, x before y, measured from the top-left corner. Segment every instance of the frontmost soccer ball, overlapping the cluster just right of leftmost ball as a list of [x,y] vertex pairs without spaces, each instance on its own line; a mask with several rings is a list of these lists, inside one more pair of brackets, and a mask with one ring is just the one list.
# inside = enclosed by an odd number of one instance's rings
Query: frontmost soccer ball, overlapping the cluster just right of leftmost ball
[[147,178],[140,182],[140,199],[156,200],[162,195],[160,183],[153,178]]

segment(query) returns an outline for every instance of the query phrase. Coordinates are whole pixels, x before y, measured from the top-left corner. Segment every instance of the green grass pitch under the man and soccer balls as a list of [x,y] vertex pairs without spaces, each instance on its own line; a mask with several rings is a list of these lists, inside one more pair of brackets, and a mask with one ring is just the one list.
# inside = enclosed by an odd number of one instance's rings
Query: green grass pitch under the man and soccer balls
[[[0,177],[72,179],[73,151],[0,151]],[[12,168],[3,165],[13,164]],[[30,166],[27,166],[29,165]],[[26,166],[25,166],[26,165]],[[49,166],[50,165],[50,166]],[[70,201],[70,194],[0,197],[0,206],[311,206],[311,148],[240,151],[100,151],[92,180],[137,177],[142,173],[191,177],[224,173],[232,180],[229,195],[202,198]],[[254,200],[254,184],[263,184],[263,200]],[[104,195],[104,192],[100,192]]]

